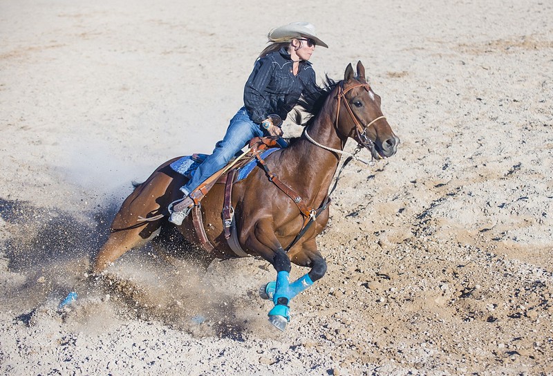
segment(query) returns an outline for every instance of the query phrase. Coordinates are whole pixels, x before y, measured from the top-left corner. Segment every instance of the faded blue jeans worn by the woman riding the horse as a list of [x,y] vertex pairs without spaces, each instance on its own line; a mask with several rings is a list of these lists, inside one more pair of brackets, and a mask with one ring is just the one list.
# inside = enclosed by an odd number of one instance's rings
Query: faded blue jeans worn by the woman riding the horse
[[185,195],[198,188],[204,180],[225,167],[225,165],[241,151],[245,145],[254,137],[263,136],[263,131],[259,124],[250,120],[244,107],[238,110],[234,118],[230,120],[227,133],[223,140],[217,142],[211,156],[205,158],[198,169],[194,171],[194,176],[187,182],[187,185],[180,188]]

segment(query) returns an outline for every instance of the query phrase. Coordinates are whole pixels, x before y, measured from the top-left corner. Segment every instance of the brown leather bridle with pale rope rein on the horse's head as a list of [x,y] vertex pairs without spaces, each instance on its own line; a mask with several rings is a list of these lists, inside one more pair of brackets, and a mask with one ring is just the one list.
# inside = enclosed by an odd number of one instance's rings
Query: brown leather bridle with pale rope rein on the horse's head
[[[338,127],[338,120],[339,120],[339,117],[340,117],[340,103],[341,103],[341,100],[344,100],[344,105],[346,106],[346,109],[348,110],[348,113],[350,114],[350,117],[353,120],[353,123],[355,124],[355,133],[357,135],[357,140],[356,140],[357,141],[357,147],[355,147],[355,152],[353,154],[348,153],[347,151],[343,151],[343,150],[339,150],[339,149],[332,149],[330,147],[326,147],[324,145],[319,144],[318,142],[316,142],[315,140],[313,140],[311,138],[311,136],[307,132],[307,129],[304,131],[304,133],[306,135],[306,138],[312,144],[315,144],[317,147],[320,147],[320,148],[328,150],[328,151],[333,151],[333,152],[339,153],[339,154],[346,154],[346,155],[354,158],[355,160],[359,160],[359,162],[362,162],[364,164],[371,164],[371,162],[367,162],[366,160],[363,160],[362,158],[357,157],[356,154],[359,153],[359,151],[361,151],[363,148],[366,148],[366,149],[368,149],[368,151],[371,151],[371,149],[373,149],[375,147],[375,143],[373,142],[373,140],[368,138],[367,135],[366,135],[367,129],[368,129],[369,126],[375,124],[375,122],[377,122],[378,120],[386,119],[386,117],[384,115],[379,116],[378,118],[372,120],[368,124],[363,125],[362,121],[357,117],[357,115],[355,115],[355,113],[353,113],[353,110],[351,109],[350,104],[346,100],[346,93],[348,93],[348,91],[350,91],[354,88],[358,88],[359,86],[364,88],[366,91],[371,90],[371,86],[369,86],[369,84],[357,84],[357,85],[350,86],[346,90],[344,90],[344,82],[341,82],[338,86],[338,94],[337,94],[338,104],[337,104],[337,111],[336,111],[336,127]],[[373,158],[373,153],[371,151],[371,160],[372,160],[372,158]]]

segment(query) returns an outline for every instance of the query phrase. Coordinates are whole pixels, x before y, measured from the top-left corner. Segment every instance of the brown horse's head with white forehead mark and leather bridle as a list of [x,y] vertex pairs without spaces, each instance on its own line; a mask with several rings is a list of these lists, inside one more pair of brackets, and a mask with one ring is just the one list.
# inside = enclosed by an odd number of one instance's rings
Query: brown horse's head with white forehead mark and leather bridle
[[366,82],[361,62],[357,62],[357,75],[349,64],[339,84],[337,127],[342,135],[370,150],[375,159],[393,156],[400,143],[382,115],[380,97]]

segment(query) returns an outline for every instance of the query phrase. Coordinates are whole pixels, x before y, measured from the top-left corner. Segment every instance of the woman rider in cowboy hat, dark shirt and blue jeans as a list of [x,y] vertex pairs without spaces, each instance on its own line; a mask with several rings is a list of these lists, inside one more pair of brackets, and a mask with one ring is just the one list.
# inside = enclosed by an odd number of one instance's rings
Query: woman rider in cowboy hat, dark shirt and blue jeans
[[244,106],[230,120],[225,137],[217,142],[213,153],[200,164],[187,185],[180,188],[185,197],[172,207],[171,223],[182,224],[194,206],[190,192],[225,167],[252,138],[283,134],[269,115],[285,119],[301,95],[318,95],[309,59],[315,46],[328,46],[317,37],[315,27],[308,22],[293,22],[271,30],[268,37],[272,43],[259,55],[245,84]]

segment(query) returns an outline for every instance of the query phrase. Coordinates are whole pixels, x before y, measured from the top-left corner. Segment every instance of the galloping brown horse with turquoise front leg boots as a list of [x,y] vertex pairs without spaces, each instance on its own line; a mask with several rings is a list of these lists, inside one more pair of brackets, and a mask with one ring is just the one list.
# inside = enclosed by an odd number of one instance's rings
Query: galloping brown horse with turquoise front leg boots
[[[380,97],[367,84],[361,62],[357,63],[357,75],[349,64],[343,81],[328,80],[321,88],[321,97],[312,115],[301,138],[268,156],[266,170],[254,169],[247,178],[236,182],[232,190],[239,247],[247,255],[261,256],[277,270],[277,281],[268,283],[265,292],[274,301],[274,308],[269,312],[270,321],[280,330],[284,330],[290,318],[290,299],[326,272],[326,261],[317,250],[315,238],[328,221],[328,189],[346,141],[353,138],[359,147],[369,149],[377,160],[393,156],[400,141],[382,115]],[[93,272],[102,272],[124,252],[144,245],[160,231],[174,229],[167,216],[159,215],[167,215],[167,206],[180,198],[182,194],[178,188],[186,182],[184,176],[169,168],[172,161],[158,167],[124,200],[113,220],[112,233],[97,254]],[[271,173],[297,193],[295,200],[268,178]],[[225,185],[216,184],[200,206],[201,215],[208,224],[205,234],[214,250],[198,251],[196,247],[190,252],[206,265],[214,259],[238,257],[240,253],[233,251],[223,236],[223,196]],[[140,222],[140,217],[153,220]],[[178,226],[178,230],[190,243],[198,243],[190,217]],[[306,227],[309,222],[312,225]],[[306,230],[298,239],[302,229]],[[290,283],[291,263],[311,270]]]

